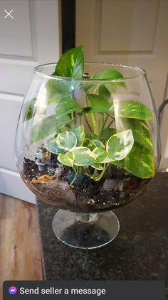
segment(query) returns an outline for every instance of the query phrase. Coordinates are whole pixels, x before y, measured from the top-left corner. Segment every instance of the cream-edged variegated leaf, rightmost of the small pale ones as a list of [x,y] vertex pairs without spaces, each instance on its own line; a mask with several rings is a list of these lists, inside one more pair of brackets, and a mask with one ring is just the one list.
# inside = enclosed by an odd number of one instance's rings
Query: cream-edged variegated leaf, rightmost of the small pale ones
[[107,141],[106,151],[108,152],[107,161],[120,161],[125,159],[134,144],[132,130],[117,133]]

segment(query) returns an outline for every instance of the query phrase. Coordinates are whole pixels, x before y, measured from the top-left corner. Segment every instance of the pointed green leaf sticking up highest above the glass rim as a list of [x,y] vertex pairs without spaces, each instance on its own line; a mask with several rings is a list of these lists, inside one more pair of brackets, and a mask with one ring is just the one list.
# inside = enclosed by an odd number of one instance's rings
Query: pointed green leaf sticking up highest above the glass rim
[[63,53],[52,75],[82,78],[84,70],[83,46],[72,48]]

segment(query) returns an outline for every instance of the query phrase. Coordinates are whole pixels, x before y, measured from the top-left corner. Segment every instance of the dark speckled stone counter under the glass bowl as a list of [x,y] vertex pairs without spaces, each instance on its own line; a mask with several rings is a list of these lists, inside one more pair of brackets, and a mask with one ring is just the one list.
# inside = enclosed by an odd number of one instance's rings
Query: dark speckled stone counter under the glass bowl
[[168,173],[158,173],[142,195],[115,210],[120,232],[98,250],[78,250],[59,242],[51,228],[56,211],[38,201],[45,279],[168,282]]

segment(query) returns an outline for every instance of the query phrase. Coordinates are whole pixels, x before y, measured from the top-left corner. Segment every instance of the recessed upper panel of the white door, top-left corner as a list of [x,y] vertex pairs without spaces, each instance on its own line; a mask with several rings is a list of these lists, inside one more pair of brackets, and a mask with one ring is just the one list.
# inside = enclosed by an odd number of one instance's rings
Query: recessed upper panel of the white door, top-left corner
[[[28,0],[1,0],[0,54],[32,57],[31,20]],[[6,12],[11,16],[6,16]],[[6,18],[4,18],[6,16]]]

